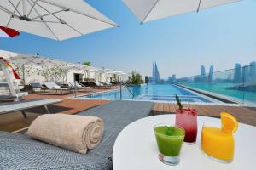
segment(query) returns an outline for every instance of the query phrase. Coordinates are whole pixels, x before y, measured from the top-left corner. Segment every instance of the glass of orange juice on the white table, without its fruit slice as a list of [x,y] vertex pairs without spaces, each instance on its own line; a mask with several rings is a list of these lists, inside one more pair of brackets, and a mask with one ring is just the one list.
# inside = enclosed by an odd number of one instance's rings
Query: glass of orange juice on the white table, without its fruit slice
[[204,123],[201,131],[201,150],[216,161],[231,162],[234,157],[234,137],[224,132],[220,123]]

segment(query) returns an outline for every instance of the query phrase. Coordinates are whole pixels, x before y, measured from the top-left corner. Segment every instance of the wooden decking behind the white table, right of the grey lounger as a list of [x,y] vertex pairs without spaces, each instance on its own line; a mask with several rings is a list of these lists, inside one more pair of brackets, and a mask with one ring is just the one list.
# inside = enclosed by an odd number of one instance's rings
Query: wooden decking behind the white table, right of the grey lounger
[[[238,122],[256,126],[256,111],[241,106],[225,105],[183,105],[184,107],[194,108],[198,115],[219,117],[220,112],[228,112],[236,116]],[[154,115],[175,113],[176,104],[155,103],[152,113]]]

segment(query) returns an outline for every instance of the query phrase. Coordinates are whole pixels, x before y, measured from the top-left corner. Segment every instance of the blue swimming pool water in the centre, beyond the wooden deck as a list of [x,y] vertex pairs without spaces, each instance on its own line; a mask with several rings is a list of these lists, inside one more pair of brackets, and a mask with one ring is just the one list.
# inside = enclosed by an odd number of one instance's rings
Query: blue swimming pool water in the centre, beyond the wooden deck
[[[143,101],[165,101],[165,102],[175,102],[175,94],[177,94],[183,102],[188,103],[212,103],[211,100],[205,99],[202,96],[198,96],[189,90],[179,88],[171,84],[150,84],[142,85],[141,87],[129,87],[132,94],[123,88],[122,99],[133,99],[133,100],[143,100]],[[120,99],[120,91],[114,90],[109,92],[104,92],[100,94],[89,94],[84,96],[79,96],[80,99]]]

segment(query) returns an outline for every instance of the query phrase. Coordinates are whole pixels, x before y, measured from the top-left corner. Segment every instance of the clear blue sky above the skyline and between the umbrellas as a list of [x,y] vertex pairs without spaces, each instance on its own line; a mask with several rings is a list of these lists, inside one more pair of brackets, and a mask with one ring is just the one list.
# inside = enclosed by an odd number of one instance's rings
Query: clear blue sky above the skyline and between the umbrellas
[[248,65],[256,60],[256,1],[181,14],[140,25],[121,0],[86,0],[118,23],[111,28],[55,41],[22,32],[19,37],[0,38],[0,49],[40,54],[70,62],[88,60],[98,67],[139,71],[151,75],[157,62],[161,77],[200,73],[200,65],[215,71]]

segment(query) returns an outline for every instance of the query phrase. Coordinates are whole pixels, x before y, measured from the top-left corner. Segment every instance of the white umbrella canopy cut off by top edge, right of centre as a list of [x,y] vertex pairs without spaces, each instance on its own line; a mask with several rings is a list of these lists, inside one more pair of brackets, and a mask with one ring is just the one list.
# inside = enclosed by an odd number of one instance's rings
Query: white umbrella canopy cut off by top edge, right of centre
[[238,1],[241,0],[123,0],[141,23]]

